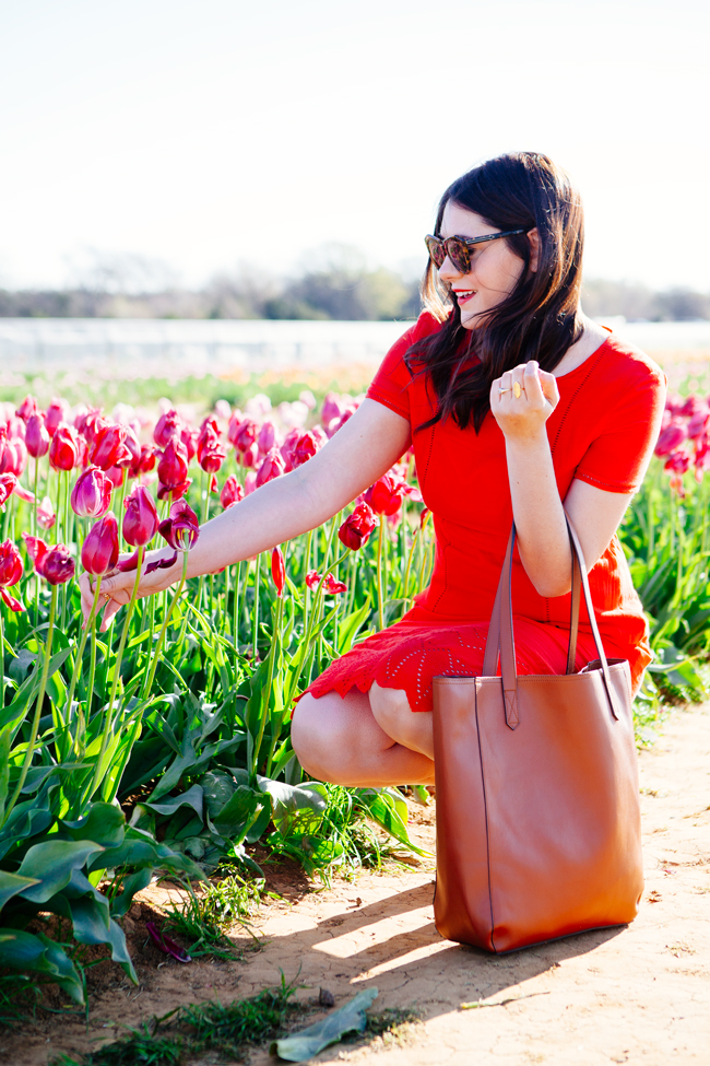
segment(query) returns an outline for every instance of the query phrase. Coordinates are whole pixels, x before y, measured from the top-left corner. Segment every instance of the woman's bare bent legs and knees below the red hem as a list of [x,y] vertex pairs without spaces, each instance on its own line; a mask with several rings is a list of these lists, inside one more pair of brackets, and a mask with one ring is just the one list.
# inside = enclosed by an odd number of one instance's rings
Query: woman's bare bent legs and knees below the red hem
[[[397,707],[388,706],[392,701],[382,698],[381,693],[399,690],[377,686],[372,686],[372,703],[378,706],[378,713],[383,721],[397,726],[403,717],[401,701]],[[406,695],[401,694],[406,700]],[[407,713],[412,718],[428,718],[430,730],[430,714]],[[425,730],[419,727],[419,731],[424,734]],[[403,738],[405,734],[402,729]],[[377,721],[367,692],[354,689],[346,696],[329,692],[319,700],[307,693],[294,711],[291,737],[304,770],[320,781],[375,788],[434,783],[433,760],[386,733]],[[422,736],[415,739],[423,740]]]

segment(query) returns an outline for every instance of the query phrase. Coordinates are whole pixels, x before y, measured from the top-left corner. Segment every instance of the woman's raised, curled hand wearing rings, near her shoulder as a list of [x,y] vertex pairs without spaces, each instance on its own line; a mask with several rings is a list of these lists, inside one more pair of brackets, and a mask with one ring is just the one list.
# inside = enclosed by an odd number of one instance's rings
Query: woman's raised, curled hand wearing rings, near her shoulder
[[506,371],[490,386],[490,410],[507,441],[540,438],[558,402],[554,374],[541,371],[534,359]]

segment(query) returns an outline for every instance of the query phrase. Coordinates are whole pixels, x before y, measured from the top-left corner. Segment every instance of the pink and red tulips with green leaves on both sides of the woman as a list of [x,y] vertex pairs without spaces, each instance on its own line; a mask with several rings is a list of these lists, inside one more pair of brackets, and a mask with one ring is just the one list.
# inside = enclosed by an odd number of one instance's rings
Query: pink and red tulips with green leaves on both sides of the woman
[[[356,406],[306,391],[272,408],[259,394],[191,425],[167,406],[149,422],[61,399],[0,405],[0,971],[82,1004],[85,946],[135,980],[121,919],[156,875],[259,876],[257,842],[324,879],[379,862],[386,839],[416,852],[398,789],[306,780],[289,741],[310,679],[428,581],[412,455],[273,552],[132,599],[106,632],[95,610],[103,575],[138,573],[157,544],[185,559],[211,515],[309,461]],[[663,705],[705,694],[706,467],[708,402],[670,399],[622,530],[655,652],[640,741]],[[96,593],[85,628],[82,572]]]

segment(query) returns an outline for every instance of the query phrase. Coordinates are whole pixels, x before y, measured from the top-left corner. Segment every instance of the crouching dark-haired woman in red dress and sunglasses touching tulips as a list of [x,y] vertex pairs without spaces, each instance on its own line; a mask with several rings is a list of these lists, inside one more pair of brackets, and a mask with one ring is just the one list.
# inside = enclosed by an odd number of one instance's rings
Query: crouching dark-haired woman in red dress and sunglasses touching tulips
[[[301,696],[292,738],[312,776],[371,786],[434,780],[431,678],[481,673],[513,518],[519,672],[565,672],[566,509],[607,655],[629,659],[639,684],[648,626],[615,534],[652,454],[664,379],[582,314],[582,244],[579,196],[546,156],[504,155],[463,175],[427,237],[427,311],[386,356],[357,412],[309,462],[202,528],[190,576],[320,525],[414,445],[437,537],[431,583],[401,622],[333,663]],[[177,581],[180,569],[143,577],[141,594]],[[131,585],[130,574],[104,579],[105,617]],[[86,582],[83,591],[87,611]],[[583,617],[577,668],[595,657]]]

